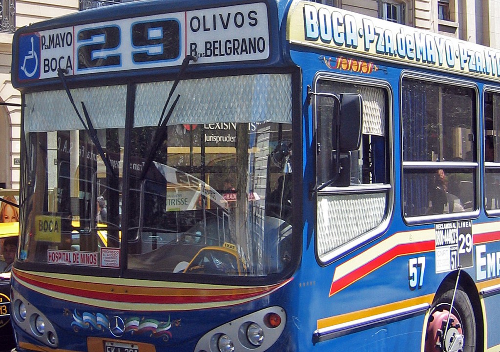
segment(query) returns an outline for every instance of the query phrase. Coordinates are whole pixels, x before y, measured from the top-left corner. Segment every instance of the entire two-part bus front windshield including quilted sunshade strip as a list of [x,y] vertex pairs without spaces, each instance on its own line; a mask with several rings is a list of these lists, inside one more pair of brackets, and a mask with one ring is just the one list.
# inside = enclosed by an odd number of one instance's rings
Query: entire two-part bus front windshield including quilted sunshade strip
[[[56,271],[126,263],[138,275],[184,277],[265,276],[291,263],[290,75],[182,80],[161,128],[165,101],[158,96],[171,86],[134,86],[129,131],[130,87],[71,89],[88,109],[99,143],[85,133],[63,90],[26,94],[31,221],[21,230],[20,260]],[[68,106],[47,107],[57,99]]]

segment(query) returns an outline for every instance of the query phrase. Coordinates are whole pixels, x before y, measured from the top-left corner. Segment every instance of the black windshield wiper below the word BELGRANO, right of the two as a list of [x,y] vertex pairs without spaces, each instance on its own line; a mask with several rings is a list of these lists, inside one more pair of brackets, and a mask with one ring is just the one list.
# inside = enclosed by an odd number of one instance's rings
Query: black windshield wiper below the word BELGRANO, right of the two
[[177,101],[180,98],[180,94],[177,94],[177,97],[175,100],[173,100],[172,105],[168,109],[168,112],[166,115],[163,117],[166,107],[168,106],[168,102],[170,101],[170,98],[172,97],[173,92],[175,91],[175,88],[177,87],[177,84],[180,81],[180,78],[182,74],[184,73],[185,69],[187,68],[187,65],[189,64],[190,61],[196,62],[197,57],[193,55],[187,55],[184,57],[182,60],[182,64],[180,65],[179,72],[177,73],[177,77],[175,77],[175,80],[173,82],[172,87],[170,88],[170,92],[168,93],[168,97],[166,98],[165,104],[163,105],[163,110],[161,110],[161,114],[159,116],[158,120],[158,125],[156,126],[156,130],[153,135],[153,139],[151,142],[151,146],[149,147],[149,150],[147,151],[147,157],[146,161],[144,162],[144,165],[142,166],[142,172],[140,173],[139,180],[144,179],[144,176],[146,175],[147,170],[149,169],[149,166],[151,166],[151,162],[153,161],[154,154],[158,150],[160,144],[163,142],[167,126],[166,124],[168,123],[168,120],[170,119],[170,116],[172,115],[173,109],[175,108],[175,105],[177,104]]

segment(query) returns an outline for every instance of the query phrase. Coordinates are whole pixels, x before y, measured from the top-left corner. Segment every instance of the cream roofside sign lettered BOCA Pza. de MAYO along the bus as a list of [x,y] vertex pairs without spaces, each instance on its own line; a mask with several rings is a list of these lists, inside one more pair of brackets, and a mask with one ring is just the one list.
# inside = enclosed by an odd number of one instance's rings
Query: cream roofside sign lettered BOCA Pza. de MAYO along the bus
[[500,77],[499,50],[310,1],[290,10],[287,27],[299,45]]

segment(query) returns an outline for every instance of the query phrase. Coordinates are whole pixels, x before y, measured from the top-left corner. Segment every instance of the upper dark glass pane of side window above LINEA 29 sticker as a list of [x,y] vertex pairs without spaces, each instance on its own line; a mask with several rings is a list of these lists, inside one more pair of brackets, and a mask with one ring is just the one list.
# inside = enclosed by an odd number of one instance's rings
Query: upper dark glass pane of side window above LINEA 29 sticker
[[403,79],[403,160],[473,161],[474,91]]

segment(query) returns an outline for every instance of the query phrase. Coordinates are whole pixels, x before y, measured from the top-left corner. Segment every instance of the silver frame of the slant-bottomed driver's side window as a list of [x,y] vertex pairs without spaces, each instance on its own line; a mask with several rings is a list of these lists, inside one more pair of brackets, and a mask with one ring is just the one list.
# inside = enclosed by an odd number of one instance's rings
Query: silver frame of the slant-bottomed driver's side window
[[[373,78],[362,78],[357,76],[348,76],[345,74],[338,74],[332,72],[317,72],[313,78],[312,85],[313,92],[316,92],[317,83],[319,80],[331,80],[334,82],[341,82],[346,84],[357,84],[364,86],[374,86],[377,88],[384,89],[386,94],[386,123],[385,123],[385,146],[386,146],[386,182],[387,183],[374,183],[374,184],[360,184],[360,185],[352,185],[347,187],[335,187],[335,186],[327,186],[320,191],[314,191],[313,194],[313,203],[314,203],[314,216],[317,220],[318,218],[318,195],[348,195],[348,194],[369,194],[376,193],[386,193],[386,203],[385,203],[385,211],[381,221],[374,228],[367,230],[364,233],[357,235],[349,239],[348,241],[334,247],[329,252],[325,254],[319,254],[318,252],[318,221],[315,223],[315,256],[316,260],[321,265],[328,265],[329,263],[337,260],[339,257],[345,255],[346,252],[353,251],[367,242],[372,241],[380,237],[388,228],[390,220],[392,218],[392,214],[394,211],[394,182],[395,182],[395,159],[394,159],[394,111],[393,111],[393,90],[390,84],[386,81],[380,79]],[[312,103],[312,123],[313,123],[313,145],[317,145],[317,120],[318,115],[316,111],[315,98],[313,96]],[[316,184],[318,182],[318,173],[317,173],[317,154],[314,153],[314,179],[316,180]]]

